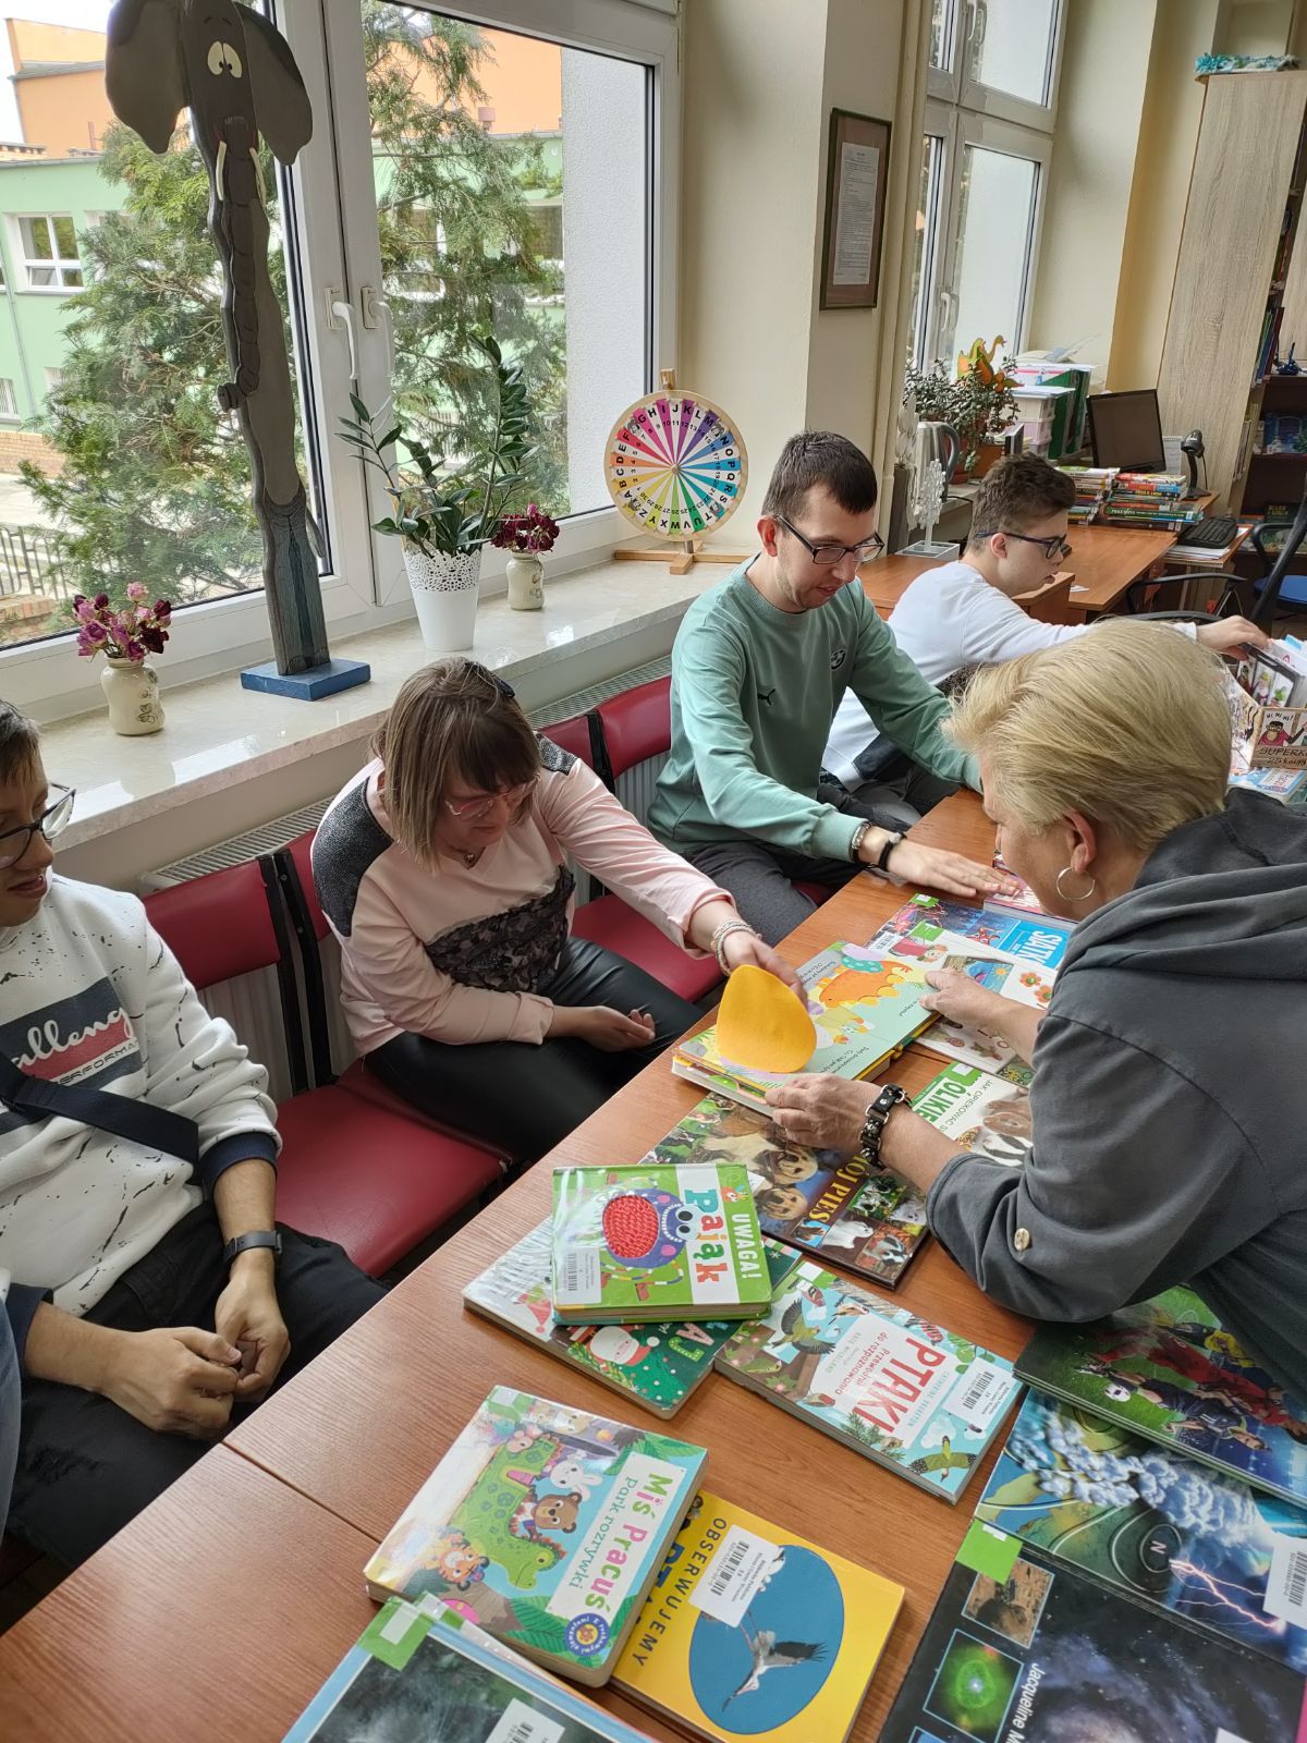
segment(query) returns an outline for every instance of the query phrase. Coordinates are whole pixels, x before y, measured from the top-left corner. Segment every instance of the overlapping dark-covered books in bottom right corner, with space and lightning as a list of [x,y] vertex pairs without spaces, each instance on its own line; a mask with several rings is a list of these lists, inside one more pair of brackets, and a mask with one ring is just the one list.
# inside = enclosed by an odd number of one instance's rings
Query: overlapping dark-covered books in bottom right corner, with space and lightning
[[882,1740],[1307,1734],[1305,1407],[1188,1290],[1044,1326],[1016,1375]]

